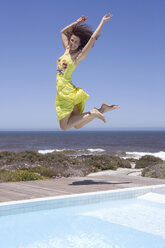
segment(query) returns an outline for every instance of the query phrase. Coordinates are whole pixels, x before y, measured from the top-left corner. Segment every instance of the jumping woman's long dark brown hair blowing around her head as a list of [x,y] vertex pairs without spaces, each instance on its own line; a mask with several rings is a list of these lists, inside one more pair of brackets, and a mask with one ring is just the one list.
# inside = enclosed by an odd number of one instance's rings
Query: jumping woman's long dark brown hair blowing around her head
[[[92,34],[93,34],[93,30],[91,26],[87,24],[78,24],[72,29],[72,31],[67,33],[67,37],[70,40],[72,35],[78,36],[81,42],[80,46],[78,47],[78,50],[82,50],[83,47],[88,43]],[[98,37],[96,38],[96,40],[98,39]]]

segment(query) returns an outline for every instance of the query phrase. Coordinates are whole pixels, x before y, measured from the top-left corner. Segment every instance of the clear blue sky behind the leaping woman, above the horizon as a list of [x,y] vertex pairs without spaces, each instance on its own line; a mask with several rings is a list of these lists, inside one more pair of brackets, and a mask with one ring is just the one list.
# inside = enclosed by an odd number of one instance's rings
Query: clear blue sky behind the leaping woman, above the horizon
[[55,110],[60,30],[82,15],[99,39],[72,75],[90,97],[121,108],[87,129],[165,129],[164,0],[1,0],[0,130],[60,130]]

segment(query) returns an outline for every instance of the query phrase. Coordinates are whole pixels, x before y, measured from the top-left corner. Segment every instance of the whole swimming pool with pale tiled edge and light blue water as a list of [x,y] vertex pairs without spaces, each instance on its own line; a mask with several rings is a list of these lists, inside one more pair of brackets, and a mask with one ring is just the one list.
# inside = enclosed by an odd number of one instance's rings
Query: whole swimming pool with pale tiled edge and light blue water
[[[165,248],[165,186],[0,204],[1,248]],[[157,190],[157,191],[156,191]]]

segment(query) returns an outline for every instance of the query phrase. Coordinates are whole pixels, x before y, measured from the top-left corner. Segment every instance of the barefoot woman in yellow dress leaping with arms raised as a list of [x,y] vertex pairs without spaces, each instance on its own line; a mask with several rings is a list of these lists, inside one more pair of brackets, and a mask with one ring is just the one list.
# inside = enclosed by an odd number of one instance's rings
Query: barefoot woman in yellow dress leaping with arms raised
[[89,112],[83,113],[89,95],[82,88],[77,88],[71,81],[72,72],[86,58],[88,52],[94,46],[103,24],[110,20],[112,15],[105,15],[95,32],[92,32],[88,25],[79,25],[85,22],[87,18],[82,16],[61,31],[65,53],[57,61],[55,106],[62,130],[69,130],[72,127],[80,129],[95,118],[106,122],[103,114],[120,108],[118,105],[104,103],[100,109],[95,107]]

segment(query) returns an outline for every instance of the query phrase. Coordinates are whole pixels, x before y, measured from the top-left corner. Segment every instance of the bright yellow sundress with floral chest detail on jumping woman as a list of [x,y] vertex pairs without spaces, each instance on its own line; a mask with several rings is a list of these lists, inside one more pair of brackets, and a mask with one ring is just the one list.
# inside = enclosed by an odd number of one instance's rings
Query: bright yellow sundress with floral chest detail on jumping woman
[[78,105],[80,114],[83,113],[85,102],[89,95],[82,88],[77,88],[71,81],[76,65],[65,53],[57,60],[56,71],[56,112],[58,121],[70,114]]

